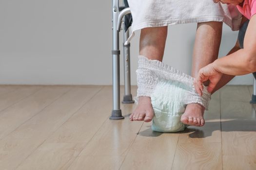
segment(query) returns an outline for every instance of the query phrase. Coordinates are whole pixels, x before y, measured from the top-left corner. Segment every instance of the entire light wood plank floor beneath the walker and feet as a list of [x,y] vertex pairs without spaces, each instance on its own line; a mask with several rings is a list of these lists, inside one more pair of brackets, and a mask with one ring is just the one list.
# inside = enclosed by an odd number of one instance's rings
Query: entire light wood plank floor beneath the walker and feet
[[111,86],[0,85],[0,170],[256,170],[252,90],[226,86],[204,127],[163,134],[129,121],[135,104],[109,120]]

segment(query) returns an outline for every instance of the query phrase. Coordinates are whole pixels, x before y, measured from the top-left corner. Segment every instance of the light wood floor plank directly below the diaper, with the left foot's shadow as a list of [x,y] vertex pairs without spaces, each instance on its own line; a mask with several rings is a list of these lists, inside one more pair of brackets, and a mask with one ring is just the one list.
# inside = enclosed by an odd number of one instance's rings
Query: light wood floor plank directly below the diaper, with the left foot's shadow
[[151,122],[143,123],[120,170],[170,170],[177,140],[177,134],[153,132]]

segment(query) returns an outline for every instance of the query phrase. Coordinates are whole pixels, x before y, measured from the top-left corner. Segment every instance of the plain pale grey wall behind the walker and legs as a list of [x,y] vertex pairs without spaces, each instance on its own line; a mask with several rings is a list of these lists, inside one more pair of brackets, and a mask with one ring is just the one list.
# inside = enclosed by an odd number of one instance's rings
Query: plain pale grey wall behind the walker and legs
[[[111,0],[1,0],[0,84],[111,85],[111,7]],[[195,31],[196,24],[170,26],[164,62],[190,74]],[[236,34],[224,27],[220,56],[234,45]],[[133,85],[138,40],[136,32],[131,42]],[[252,75],[232,82],[252,83]]]

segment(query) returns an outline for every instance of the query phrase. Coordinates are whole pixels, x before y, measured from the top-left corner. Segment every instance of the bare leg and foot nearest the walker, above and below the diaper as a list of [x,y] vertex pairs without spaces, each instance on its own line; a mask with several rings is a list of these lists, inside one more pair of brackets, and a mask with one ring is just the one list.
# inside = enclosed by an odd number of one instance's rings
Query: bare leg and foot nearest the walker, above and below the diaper
[[[150,60],[162,61],[165,42],[167,37],[167,26],[144,28],[140,32],[139,55],[143,55]],[[140,96],[138,105],[130,115],[131,121],[149,122],[154,117],[154,110],[149,97]]]

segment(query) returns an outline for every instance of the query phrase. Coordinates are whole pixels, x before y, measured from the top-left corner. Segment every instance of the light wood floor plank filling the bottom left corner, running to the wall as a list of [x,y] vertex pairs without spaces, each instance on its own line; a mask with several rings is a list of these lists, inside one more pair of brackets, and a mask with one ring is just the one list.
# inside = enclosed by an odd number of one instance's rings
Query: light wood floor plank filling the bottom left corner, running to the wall
[[0,141],[0,169],[15,169],[101,87],[73,87]]

